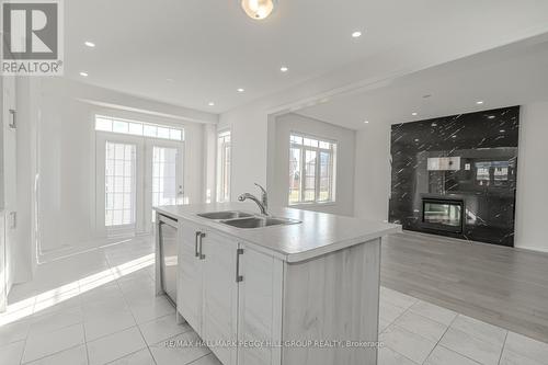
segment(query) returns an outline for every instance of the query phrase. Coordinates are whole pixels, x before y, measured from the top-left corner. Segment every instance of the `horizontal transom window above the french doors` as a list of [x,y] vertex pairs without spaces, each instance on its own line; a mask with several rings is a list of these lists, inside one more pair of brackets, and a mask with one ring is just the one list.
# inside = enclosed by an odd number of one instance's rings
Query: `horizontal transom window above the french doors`
[[121,119],[104,115],[95,115],[95,130],[171,140],[184,139],[184,130],[182,128]]

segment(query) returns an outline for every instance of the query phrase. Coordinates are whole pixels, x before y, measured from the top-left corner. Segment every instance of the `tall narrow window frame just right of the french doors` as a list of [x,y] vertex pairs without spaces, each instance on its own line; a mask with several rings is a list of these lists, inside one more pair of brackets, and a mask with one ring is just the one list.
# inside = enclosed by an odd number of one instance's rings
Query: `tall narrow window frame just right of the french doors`
[[[226,137],[229,137],[229,140],[226,141],[224,140],[222,141],[222,149],[221,149],[221,141],[220,139],[221,138],[226,138]],[[228,152],[228,172],[226,171],[226,151],[227,151],[227,147],[228,146],[228,149],[229,149],[229,152]],[[220,129],[220,130],[217,130],[217,138],[216,138],[216,159],[215,159],[215,163],[216,163],[216,189],[215,189],[215,192],[216,192],[216,196],[215,196],[215,201],[217,203],[228,203],[230,202],[231,199],[231,185],[232,185],[232,130],[229,129],[229,128],[226,128],[226,129]],[[224,183],[224,178],[226,178],[227,180],[227,185],[226,186],[226,191],[228,192],[228,195],[227,196],[222,196],[221,198],[221,185]]]

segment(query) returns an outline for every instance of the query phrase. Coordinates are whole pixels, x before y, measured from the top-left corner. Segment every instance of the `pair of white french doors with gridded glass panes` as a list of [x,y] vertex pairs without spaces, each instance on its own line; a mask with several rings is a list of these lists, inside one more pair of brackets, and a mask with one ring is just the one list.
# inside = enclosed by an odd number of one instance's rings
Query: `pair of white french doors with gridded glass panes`
[[152,207],[183,202],[183,142],[96,133],[96,228],[148,232]]

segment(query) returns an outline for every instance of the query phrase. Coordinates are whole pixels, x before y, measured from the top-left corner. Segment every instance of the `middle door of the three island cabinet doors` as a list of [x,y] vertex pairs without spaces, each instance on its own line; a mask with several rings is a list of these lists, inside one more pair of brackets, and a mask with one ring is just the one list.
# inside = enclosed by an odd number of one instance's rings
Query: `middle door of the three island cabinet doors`
[[238,283],[236,263],[238,242],[207,232],[203,240],[204,312],[202,339],[213,343],[213,353],[224,365],[236,365]]

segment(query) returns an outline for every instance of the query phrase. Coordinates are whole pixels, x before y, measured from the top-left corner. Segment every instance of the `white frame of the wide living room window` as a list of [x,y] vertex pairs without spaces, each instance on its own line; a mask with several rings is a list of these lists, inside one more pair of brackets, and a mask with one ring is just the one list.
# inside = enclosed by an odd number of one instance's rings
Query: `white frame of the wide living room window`
[[[302,138],[301,144],[297,144],[293,141],[293,137]],[[317,146],[306,146],[304,139],[311,139],[317,141]],[[329,144],[330,148],[322,148],[321,142]],[[299,205],[333,205],[336,203],[336,155],[338,155],[339,142],[334,139],[323,138],[313,136],[310,134],[301,133],[301,132],[289,132],[289,157],[288,162],[290,163],[290,153],[292,149],[298,149],[299,153],[299,174],[300,174],[300,184],[299,184],[299,199],[297,202],[290,201],[290,185],[287,189],[287,205],[288,206],[299,206]],[[313,201],[305,201],[304,193],[306,190],[306,151],[313,151],[316,153],[316,163],[315,163],[315,199]],[[321,186],[321,152],[327,152],[330,156],[329,170],[330,176],[329,179],[329,197],[328,199],[320,201],[320,186]]]

